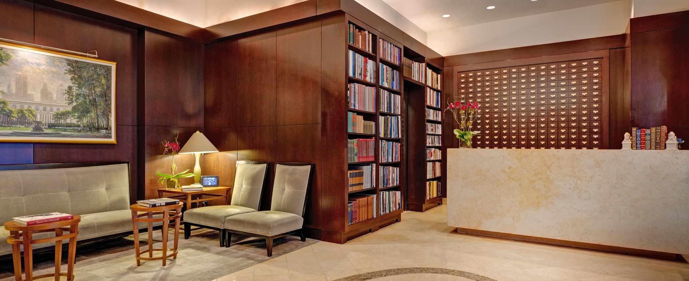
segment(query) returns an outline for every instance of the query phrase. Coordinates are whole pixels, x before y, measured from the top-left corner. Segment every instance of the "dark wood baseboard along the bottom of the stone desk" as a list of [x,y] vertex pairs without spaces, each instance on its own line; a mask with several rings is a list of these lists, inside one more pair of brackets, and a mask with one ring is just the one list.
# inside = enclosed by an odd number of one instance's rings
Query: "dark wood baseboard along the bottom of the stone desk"
[[633,249],[633,248],[627,248],[627,247],[608,246],[608,245],[600,245],[600,244],[593,244],[593,243],[576,242],[576,241],[570,241],[570,240],[559,240],[559,239],[553,239],[553,238],[542,238],[542,237],[526,236],[526,235],[520,235],[520,234],[509,234],[509,233],[504,233],[504,232],[490,232],[487,230],[479,230],[479,229],[469,229],[469,228],[457,227],[457,232],[463,233],[463,234],[475,234],[475,235],[480,235],[480,236],[505,238],[505,239],[528,241],[528,242],[535,242],[535,243],[545,243],[545,244],[552,244],[552,245],[559,245],[559,246],[576,247],[576,248],[583,248],[583,249],[593,249],[593,250],[598,250],[598,251],[612,251],[615,253],[630,254],[630,255],[635,255],[635,256],[648,256],[648,257],[652,257],[652,258],[665,258],[668,260],[682,260],[683,259],[683,258],[681,258],[681,255],[679,255],[679,254],[666,253],[663,251],[650,251],[650,250],[644,250],[644,249]]

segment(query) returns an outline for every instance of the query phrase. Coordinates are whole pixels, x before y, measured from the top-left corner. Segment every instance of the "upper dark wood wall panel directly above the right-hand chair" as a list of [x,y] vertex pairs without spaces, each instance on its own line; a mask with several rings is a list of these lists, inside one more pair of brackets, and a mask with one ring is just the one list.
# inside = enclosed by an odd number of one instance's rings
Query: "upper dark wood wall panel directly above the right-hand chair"
[[277,32],[278,125],[320,123],[320,21]]

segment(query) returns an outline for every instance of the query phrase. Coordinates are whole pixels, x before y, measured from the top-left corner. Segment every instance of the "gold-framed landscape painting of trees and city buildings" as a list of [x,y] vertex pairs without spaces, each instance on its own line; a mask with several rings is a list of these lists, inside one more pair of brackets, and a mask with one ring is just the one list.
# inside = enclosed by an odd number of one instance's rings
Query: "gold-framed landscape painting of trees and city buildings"
[[0,142],[116,144],[116,63],[0,41]]

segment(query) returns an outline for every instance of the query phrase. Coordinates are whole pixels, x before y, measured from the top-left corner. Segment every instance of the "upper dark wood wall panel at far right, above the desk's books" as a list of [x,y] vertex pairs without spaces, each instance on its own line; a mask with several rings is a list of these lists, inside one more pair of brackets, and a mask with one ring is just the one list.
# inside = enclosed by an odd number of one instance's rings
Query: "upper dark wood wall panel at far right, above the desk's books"
[[632,126],[689,125],[689,27],[631,36]]

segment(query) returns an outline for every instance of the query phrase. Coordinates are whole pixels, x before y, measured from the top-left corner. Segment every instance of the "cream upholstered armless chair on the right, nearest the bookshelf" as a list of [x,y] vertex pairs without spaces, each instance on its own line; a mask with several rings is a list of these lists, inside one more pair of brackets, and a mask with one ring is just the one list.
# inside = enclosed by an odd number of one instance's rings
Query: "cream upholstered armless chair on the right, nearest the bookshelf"
[[304,212],[307,194],[311,187],[313,164],[277,163],[270,211],[259,211],[231,216],[225,221],[227,244],[232,233],[265,238],[268,256],[273,255],[273,239],[299,233],[306,241]]

